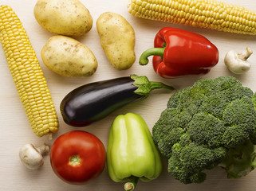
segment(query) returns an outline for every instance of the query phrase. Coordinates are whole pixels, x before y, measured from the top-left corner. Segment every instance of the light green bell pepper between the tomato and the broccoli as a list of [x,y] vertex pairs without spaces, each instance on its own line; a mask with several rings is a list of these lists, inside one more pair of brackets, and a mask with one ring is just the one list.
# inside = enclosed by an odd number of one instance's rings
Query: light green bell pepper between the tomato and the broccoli
[[124,182],[133,190],[138,180],[152,181],[162,171],[147,123],[137,114],[118,115],[110,127],[107,147],[108,174],[112,181]]

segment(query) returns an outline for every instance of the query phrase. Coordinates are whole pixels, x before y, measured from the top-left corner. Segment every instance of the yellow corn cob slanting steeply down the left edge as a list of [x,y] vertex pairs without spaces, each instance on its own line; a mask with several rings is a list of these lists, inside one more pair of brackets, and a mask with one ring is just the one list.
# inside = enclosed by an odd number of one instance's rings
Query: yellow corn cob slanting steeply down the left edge
[[33,132],[58,130],[53,101],[26,30],[10,6],[0,6],[0,41]]

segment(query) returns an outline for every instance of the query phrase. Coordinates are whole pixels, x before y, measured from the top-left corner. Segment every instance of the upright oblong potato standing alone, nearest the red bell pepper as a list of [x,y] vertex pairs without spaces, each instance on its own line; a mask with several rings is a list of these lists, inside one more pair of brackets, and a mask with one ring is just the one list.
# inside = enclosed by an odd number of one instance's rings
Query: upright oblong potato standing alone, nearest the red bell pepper
[[110,64],[118,70],[130,68],[136,60],[135,33],[132,25],[120,14],[107,12],[97,19],[96,29]]

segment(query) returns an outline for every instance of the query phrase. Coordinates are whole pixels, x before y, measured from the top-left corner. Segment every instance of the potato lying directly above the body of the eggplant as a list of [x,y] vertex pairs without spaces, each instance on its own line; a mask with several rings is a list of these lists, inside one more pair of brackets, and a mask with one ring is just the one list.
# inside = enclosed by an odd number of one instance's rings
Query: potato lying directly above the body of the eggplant
[[61,35],[49,38],[41,49],[41,59],[49,69],[61,76],[92,76],[98,65],[87,46]]

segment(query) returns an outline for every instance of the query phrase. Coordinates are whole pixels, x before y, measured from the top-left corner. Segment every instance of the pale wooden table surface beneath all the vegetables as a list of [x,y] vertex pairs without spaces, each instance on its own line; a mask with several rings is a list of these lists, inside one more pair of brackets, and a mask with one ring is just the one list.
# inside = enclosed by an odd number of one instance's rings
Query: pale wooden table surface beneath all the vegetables
[[[256,37],[248,35],[239,35],[233,33],[223,33],[210,29],[199,29],[191,26],[173,25],[161,21],[149,21],[142,18],[135,18],[128,14],[127,0],[81,0],[84,5],[89,9],[93,16],[93,28],[89,33],[77,40],[87,45],[93,51],[98,60],[98,68],[96,73],[88,78],[68,78],[59,76],[45,67],[41,60],[41,48],[49,37],[54,34],[49,33],[37,24],[33,17],[33,7],[36,1],[31,0],[1,0],[0,4],[11,6],[18,14],[23,26],[25,27],[28,36],[30,37],[31,44],[37,53],[37,58],[40,61],[41,68],[45,74],[45,78],[49,85],[49,90],[53,97],[53,102],[57,108],[57,115],[60,122],[60,130],[53,134],[53,139],[49,140],[48,137],[38,138],[30,128],[30,124],[26,119],[25,111],[22,103],[18,97],[18,93],[14,86],[14,81],[10,75],[8,65],[2,48],[0,49],[0,190],[90,190],[90,191],[112,191],[123,190],[122,183],[115,183],[108,177],[108,171],[105,167],[104,172],[96,180],[88,185],[69,185],[61,181],[54,173],[49,163],[49,155],[45,156],[45,164],[40,170],[32,171],[26,169],[22,165],[18,157],[18,151],[21,146],[26,143],[33,143],[35,146],[40,146],[42,143],[51,146],[53,141],[68,131],[84,130],[95,134],[104,143],[106,147],[108,144],[108,130],[115,119],[116,115],[125,114],[127,112],[134,112],[140,114],[148,123],[148,127],[152,130],[154,123],[160,116],[161,111],[166,107],[167,100],[173,92],[167,91],[154,91],[142,101],[129,104],[118,111],[113,112],[107,118],[100,122],[93,123],[89,127],[69,127],[63,122],[61,117],[59,105],[61,99],[82,84],[87,84],[97,80],[112,79],[120,76],[129,76],[131,74],[148,76],[150,80],[162,81],[165,84],[170,84],[175,87],[175,90],[191,86],[195,80],[200,78],[215,78],[217,76],[235,76],[242,82],[244,86],[251,88],[256,92]],[[225,2],[245,6],[251,10],[256,10],[256,3],[254,0],[225,0]],[[136,32],[136,63],[132,68],[126,71],[117,71],[108,63],[104,55],[104,51],[100,46],[100,38],[96,31],[96,19],[104,12],[111,11],[121,14],[133,26]],[[211,72],[205,76],[187,76],[179,79],[167,80],[157,76],[152,69],[152,64],[147,66],[140,66],[138,60],[140,54],[145,49],[152,48],[153,39],[156,33],[165,26],[179,27],[187,29],[195,33],[202,34],[212,41],[219,49],[219,64],[212,68]],[[250,71],[244,75],[234,75],[226,69],[223,62],[224,56],[230,49],[243,51],[249,46],[255,53],[250,57],[249,61],[252,64]],[[185,55],[184,55],[185,56]],[[136,190],[161,190],[161,191],[254,191],[256,190],[256,170],[246,177],[236,180],[228,180],[226,173],[220,168],[207,171],[207,181],[203,184],[183,185],[176,181],[171,175],[167,173],[167,159],[163,158],[163,173],[154,181],[144,183],[139,182]]]

